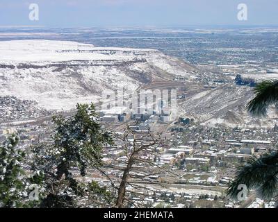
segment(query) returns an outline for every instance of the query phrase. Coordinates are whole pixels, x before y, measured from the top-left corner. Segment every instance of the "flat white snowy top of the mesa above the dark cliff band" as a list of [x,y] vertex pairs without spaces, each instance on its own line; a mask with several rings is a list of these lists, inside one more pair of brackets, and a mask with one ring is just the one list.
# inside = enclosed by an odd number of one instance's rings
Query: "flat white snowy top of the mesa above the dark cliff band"
[[92,44],[50,40],[15,40],[0,42],[0,63],[2,65],[25,62],[66,62],[94,60],[133,60],[152,49],[126,49],[95,47]]

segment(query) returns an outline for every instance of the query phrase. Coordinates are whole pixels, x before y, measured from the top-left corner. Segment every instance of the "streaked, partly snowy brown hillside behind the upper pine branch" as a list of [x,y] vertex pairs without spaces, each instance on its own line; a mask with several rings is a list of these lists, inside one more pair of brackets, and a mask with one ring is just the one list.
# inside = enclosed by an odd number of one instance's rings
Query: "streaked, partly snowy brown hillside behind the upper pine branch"
[[247,103],[254,96],[252,89],[225,84],[196,94],[181,105],[181,110],[206,125],[273,127],[277,122],[275,108],[270,108],[268,118],[256,118],[247,113]]

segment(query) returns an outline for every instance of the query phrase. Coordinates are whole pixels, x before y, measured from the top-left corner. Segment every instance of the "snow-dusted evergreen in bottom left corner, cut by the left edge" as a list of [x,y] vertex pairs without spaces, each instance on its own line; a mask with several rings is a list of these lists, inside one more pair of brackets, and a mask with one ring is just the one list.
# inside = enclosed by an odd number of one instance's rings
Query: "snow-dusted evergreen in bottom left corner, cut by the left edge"
[[35,198],[29,195],[34,187],[40,188],[43,173],[27,175],[23,167],[26,152],[17,148],[18,142],[19,137],[14,134],[0,145],[0,207],[4,208],[35,207],[40,199],[39,192],[33,195]]

